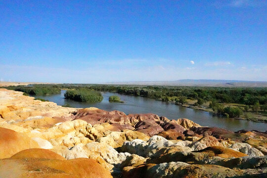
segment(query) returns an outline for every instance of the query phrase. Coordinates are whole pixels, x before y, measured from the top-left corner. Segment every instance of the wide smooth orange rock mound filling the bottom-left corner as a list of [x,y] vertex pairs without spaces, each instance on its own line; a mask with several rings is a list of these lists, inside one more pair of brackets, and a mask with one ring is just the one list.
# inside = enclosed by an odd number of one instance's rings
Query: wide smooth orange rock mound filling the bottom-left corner
[[88,158],[55,159],[2,159],[1,178],[112,178],[96,161]]

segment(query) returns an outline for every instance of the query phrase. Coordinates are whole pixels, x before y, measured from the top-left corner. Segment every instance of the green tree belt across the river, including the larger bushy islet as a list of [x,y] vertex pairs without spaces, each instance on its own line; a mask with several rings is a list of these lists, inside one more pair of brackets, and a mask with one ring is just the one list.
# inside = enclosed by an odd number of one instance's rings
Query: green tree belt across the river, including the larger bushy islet
[[[218,114],[228,114],[229,117],[239,117],[240,111],[234,107],[224,107],[219,103],[244,104],[244,110],[258,112],[267,110],[267,88],[223,88],[223,87],[170,87],[170,86],[132,86],[132,85],[92,85],[92,84],[58,84],[10,86],[6,89],[23,91],[31,95],[60,93],[60,89],[68,90],[66,98],[82,102],[102,101],[100,92],[114,91],[121,94],[152,97],[162,101],[174,101],[184,104],[187,99],[197,100],[195,105],[210,101],[210,108]],[[235,109],[235,111],[234,111]],[[227,115],[226,115],[227,116]]]

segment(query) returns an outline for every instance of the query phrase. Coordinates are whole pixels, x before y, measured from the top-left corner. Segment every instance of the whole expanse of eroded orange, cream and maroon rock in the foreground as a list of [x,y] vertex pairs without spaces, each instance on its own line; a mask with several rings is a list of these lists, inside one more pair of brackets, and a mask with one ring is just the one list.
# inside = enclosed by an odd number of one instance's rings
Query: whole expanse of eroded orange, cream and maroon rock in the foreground
[[266,178],[267,132],[65,108],[0,89],[0,178]]

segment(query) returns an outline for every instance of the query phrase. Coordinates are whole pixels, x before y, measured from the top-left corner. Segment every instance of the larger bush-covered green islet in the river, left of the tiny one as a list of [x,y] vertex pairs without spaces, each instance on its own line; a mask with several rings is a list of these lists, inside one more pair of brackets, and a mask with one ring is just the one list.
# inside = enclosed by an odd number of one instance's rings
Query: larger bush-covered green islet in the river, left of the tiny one
[[64,94],[66,99],[72,99],[80,102],[101,102],[103,96],[99,91],[91,91],[88,89],[67,90]]

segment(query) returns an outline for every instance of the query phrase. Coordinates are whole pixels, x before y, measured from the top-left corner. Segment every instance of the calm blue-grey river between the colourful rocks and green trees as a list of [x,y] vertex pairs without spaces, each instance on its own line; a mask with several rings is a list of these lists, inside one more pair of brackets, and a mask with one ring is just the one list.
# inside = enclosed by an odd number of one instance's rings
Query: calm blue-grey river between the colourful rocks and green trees
[[[239,130],[258,130],[265,132],[267,130],[267,123],[258,123],[246,120],[229,119],[213,115],[213,113],[186,108],[175,105],[174,103],[162,102],[153,98],[142,96],[125,95],[114,92],[101,92],[103,100],[99,103],[83,103],[64,98],[66,90],[61,90],[60,94],[51,94],[45,96],[36,96],[55,102],[58,105],[69,104],[76,108],[96,107],[106,111],[123,111],[125,114],[140,114],[140,113],[154,113],[159,116],[165,116],[168,119],[187,118],[191,121],[209,127],[219,127],[230,131]],[[109,102],[108,98],[111,95],[120,96],[124,103]]]

